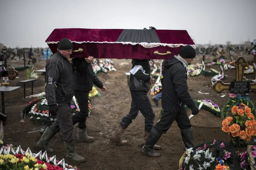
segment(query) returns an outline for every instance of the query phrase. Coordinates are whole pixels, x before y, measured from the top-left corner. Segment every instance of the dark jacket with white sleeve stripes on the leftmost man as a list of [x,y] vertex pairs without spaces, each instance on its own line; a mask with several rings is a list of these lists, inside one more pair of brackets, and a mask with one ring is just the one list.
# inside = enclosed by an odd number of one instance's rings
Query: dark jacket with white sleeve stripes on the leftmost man
[[74,96],[72,64],[66,57],[56,52],[47,61],[45,69],[48,105],[70,103]]

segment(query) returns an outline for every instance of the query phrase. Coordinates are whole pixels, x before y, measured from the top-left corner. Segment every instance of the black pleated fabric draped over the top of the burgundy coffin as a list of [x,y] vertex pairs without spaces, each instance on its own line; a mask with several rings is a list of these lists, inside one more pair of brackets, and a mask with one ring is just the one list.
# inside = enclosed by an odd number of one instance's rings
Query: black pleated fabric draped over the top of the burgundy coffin
[[133,43],[161,43],[155,30],[131,30],[125,29],[119,37],[117,38],[116,42],[133,42]]

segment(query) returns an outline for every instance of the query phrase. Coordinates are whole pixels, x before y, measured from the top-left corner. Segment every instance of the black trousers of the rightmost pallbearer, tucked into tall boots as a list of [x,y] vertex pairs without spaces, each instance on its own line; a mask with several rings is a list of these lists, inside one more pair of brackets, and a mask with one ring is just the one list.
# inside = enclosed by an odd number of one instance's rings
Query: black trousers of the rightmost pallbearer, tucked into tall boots
[[185,107],[182,107],[179,111],[163,111],[160,121],[154,128],[159,133],[166,133],[174,120],[177,122],[180,129],[187,129],[191,127],[190,121],[187,117],[187,111]]

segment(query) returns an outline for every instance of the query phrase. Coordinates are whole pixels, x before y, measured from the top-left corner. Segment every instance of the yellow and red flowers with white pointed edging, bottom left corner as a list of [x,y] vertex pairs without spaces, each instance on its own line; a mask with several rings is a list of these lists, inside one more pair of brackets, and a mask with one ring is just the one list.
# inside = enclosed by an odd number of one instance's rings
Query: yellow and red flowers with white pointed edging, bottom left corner
[[48,157],[46,151],[34,154],[29,148],[26,151],[20,146],[14,148],[9,144],[0,145],[1,170],[79,170],[76,166],[65,164],[65,160]]

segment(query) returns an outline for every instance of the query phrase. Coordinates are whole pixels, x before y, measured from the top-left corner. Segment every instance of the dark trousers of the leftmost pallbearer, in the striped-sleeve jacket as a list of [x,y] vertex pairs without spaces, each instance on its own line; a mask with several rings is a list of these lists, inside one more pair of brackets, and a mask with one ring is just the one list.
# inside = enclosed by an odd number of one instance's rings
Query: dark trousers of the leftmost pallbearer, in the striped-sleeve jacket
[[70,109],[71,103],[58,104],[57,120],[50,125],[55,133],[62,130],[62,138],[67,142],[73,140],[73,122]]

